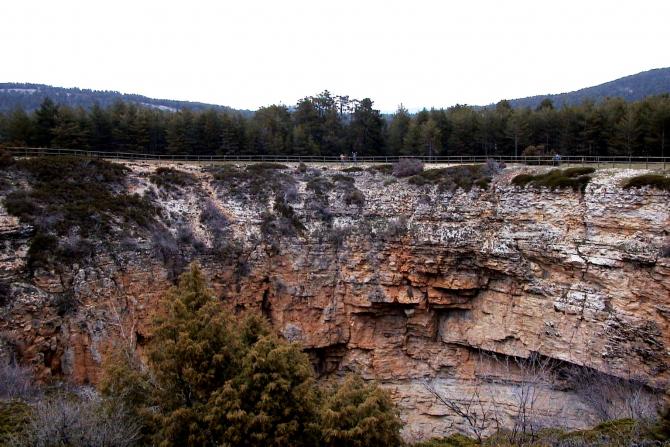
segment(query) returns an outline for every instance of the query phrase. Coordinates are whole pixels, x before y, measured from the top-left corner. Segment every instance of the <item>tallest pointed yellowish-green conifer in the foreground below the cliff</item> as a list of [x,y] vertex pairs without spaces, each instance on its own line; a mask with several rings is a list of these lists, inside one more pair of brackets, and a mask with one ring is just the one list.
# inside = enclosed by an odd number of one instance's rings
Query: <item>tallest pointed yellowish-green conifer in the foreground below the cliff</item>
[[193,264],[162,300],[148,357],[156,380],[159,445],[214,445],[208,403],[240,368],[234,320]]

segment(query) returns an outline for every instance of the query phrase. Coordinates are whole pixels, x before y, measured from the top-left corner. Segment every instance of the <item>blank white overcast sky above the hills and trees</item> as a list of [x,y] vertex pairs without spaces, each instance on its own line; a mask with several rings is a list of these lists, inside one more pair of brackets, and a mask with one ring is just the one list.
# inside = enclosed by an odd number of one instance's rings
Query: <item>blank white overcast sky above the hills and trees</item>
[[2,0],[0,82],[257,109],[329,90],[394,111],[670,66],[670,1]]

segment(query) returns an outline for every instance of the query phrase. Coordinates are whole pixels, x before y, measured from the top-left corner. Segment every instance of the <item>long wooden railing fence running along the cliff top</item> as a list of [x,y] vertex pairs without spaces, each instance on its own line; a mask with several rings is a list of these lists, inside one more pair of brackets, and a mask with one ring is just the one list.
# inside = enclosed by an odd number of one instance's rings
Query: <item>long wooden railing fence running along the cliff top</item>
[[182,162],[284,162],[284,163],[395,163],[403,158],[420,159],[424,163],[434,164],[467,164],[484,163],[493,159],[505,163],[523,163],[528,165],[556,165],[556,164],[591,164],[591,165],[628,165],[630,167],[659,167],[670,166],[670,157],[645,156],[562,156],[557,160],[553,155],[513,156],[513,155],[451,155],[451,156],[358,156],[355,159],[347,156],[320,155],[182,155],[182,154],[149,154],[119,151],[90,151],[80,149],[10,147],[7,148],[17,157],[58,156],[70,155],[80,157],[105,158],[113,160],[145,160],[145,161],[182,161]]

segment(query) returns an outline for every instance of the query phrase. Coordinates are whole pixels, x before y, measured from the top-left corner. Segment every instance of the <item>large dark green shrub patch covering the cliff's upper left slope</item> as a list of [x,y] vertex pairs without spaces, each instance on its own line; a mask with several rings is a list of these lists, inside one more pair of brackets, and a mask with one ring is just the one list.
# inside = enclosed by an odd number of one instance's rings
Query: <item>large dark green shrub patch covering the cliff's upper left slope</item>
[[[149,225],[154,207],[125,192],[128,169],[100,159],[37,157],[17,160],[29,189],[16,186],[4,199],[7,212],[35,227],[29,264],[75,259],[90,251],[88,237],[129,223]],[[60,237],[60,240],[57,239]]]

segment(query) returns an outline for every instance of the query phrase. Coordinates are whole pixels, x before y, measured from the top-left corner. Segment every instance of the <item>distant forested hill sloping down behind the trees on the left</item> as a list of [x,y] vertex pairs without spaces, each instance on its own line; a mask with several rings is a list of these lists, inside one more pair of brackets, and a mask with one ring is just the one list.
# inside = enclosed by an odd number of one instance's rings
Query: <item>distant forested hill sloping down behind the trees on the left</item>
[[44,84],[0,83],[0,112],[8,112],[16,107],[26,111],[37,109],[44,98],[70,107],[90,109],[97,103],[108,107],[116,101],[131,102],[144,107],[160,110],[177,111],[181,109],[204,110],[216,109],[227,112],[251,114],[249,110],[236,110],[231,107],[205,104],[201,102],[174,101],[171,99],[154,99],[142,95],[119,93],[114,91],[88,90],[79,88],[52,87]]

